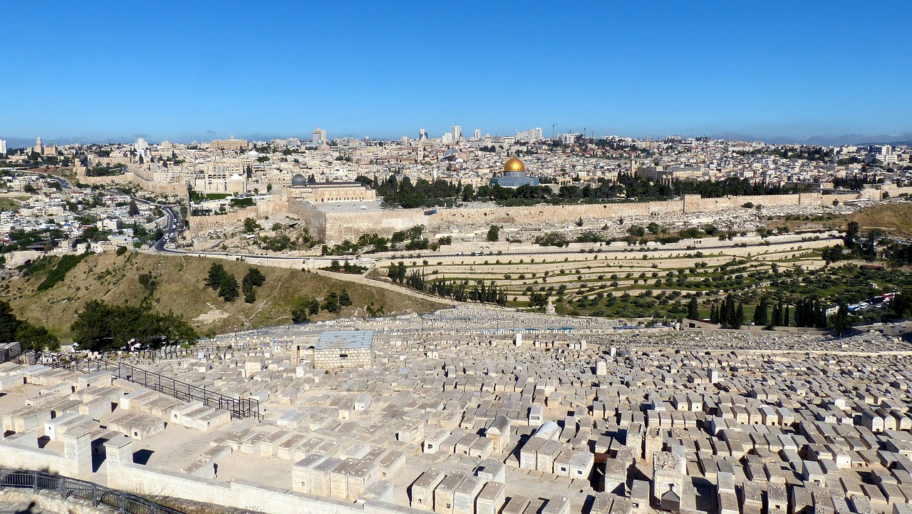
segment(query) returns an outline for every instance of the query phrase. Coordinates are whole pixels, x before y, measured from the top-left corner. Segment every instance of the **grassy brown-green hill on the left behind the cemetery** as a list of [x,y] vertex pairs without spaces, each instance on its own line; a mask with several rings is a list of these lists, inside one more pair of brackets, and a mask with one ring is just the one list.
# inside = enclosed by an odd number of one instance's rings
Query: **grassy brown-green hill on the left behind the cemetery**
[[[59,257],[50,257],[58,260]],[[140,285],[140,275],[151,274],[156,286],[152,304],[161,312],[173,311],[191,321],[201,335],[240,330],[263,325],[291,323],[290,310],[301,298],[323,299],[331,292],[348,291],[353,305],[338,314],[321,310],[311,320],[365,316],[366,307],[383,308],[386,314],[428,312],[440,309],[437,304],[394,291],[320,277],[299,269],[259,267],[266,278],[256,288],[256,301],[241,299],[227,303],[210,288],[203,286],[212,262],[221,263],[238,282],[251,267],[244,262],[203,257],[171,257],[128,252],[88,256],[67,272],[66,278],[52,288],[39,291],[38,286],[52,273],[55,262],[48,262],[29,277],[0,283],[0,298],[7,299],[21,319],[46,325],[61,341],[70,339],[69,326],[79,310],[91,299],[123,304],[140,302],[147,289]]]

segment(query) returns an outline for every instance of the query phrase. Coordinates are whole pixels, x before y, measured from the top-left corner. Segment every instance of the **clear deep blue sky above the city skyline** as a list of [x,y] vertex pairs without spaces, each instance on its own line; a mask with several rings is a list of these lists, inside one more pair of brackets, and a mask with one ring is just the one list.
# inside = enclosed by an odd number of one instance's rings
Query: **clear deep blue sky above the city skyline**
[[[5,0],[0,137],[907,136],[912,2]],[[853,136],[855,137],[855,136]]]

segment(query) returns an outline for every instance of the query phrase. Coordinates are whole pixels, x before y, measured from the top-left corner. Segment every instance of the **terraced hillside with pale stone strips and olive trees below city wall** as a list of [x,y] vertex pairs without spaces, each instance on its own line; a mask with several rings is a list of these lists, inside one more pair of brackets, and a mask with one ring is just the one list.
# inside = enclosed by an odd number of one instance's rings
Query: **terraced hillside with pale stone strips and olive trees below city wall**
[[[802,238],[804,240],[802,240]],[[793,301],[817,297],[868,298],[889,290],[904,278],[877,277],[876,270],[859,271],[827,267],[823,247],[838,240],[825,235],[773,236],[704,241],[701,250],[681,245],[628,247],[578,245],[552,253],[518,255],[422,257],[389,259],[373,273],[388,276],[389,267],[403,263],[407,275],[418,273],[426,281],[446,279],[465,282],[468,288],[480,281],[492,282],[507,294],[507,306],[539,309],[550,299],[557,313],[612,318],[681,317],[690,298],[697,298],[702,317],[710,305],[728,293],[745,303],[750,319],[762,294]],[[846,280],[846,274],[872,275]]]

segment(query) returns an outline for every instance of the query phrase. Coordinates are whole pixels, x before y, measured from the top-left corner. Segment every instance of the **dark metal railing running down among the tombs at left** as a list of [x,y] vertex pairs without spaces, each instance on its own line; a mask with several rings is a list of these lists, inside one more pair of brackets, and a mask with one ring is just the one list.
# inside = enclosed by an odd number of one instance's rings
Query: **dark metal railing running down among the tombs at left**
[[254,398],[232,398],[223,393],[209,391],[204,387],[181,382],[180,380],[150,372],[126,362],[111,362],[106,359],[64,358],[57,353],[35,352],[35,362],[71,372],[110,372],[114,377],[140,384],[141,386],[167,394],[182,402],[199,401],[207,407],[223,409],[233,418],[253,417],[263,421],[260,402]]

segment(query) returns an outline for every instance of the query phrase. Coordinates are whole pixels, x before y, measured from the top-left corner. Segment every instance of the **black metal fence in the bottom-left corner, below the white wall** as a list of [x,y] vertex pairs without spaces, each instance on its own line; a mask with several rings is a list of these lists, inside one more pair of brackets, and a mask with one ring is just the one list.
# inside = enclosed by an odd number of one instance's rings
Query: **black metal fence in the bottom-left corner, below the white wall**
[[180,510],[123,491],[43,471],[0,467],[0,488],[31,489],[34,493],[42,490],[57,491],[63,498],[82,498],[91,501],[92,507],[104,504],[130,514],[182,514]]

